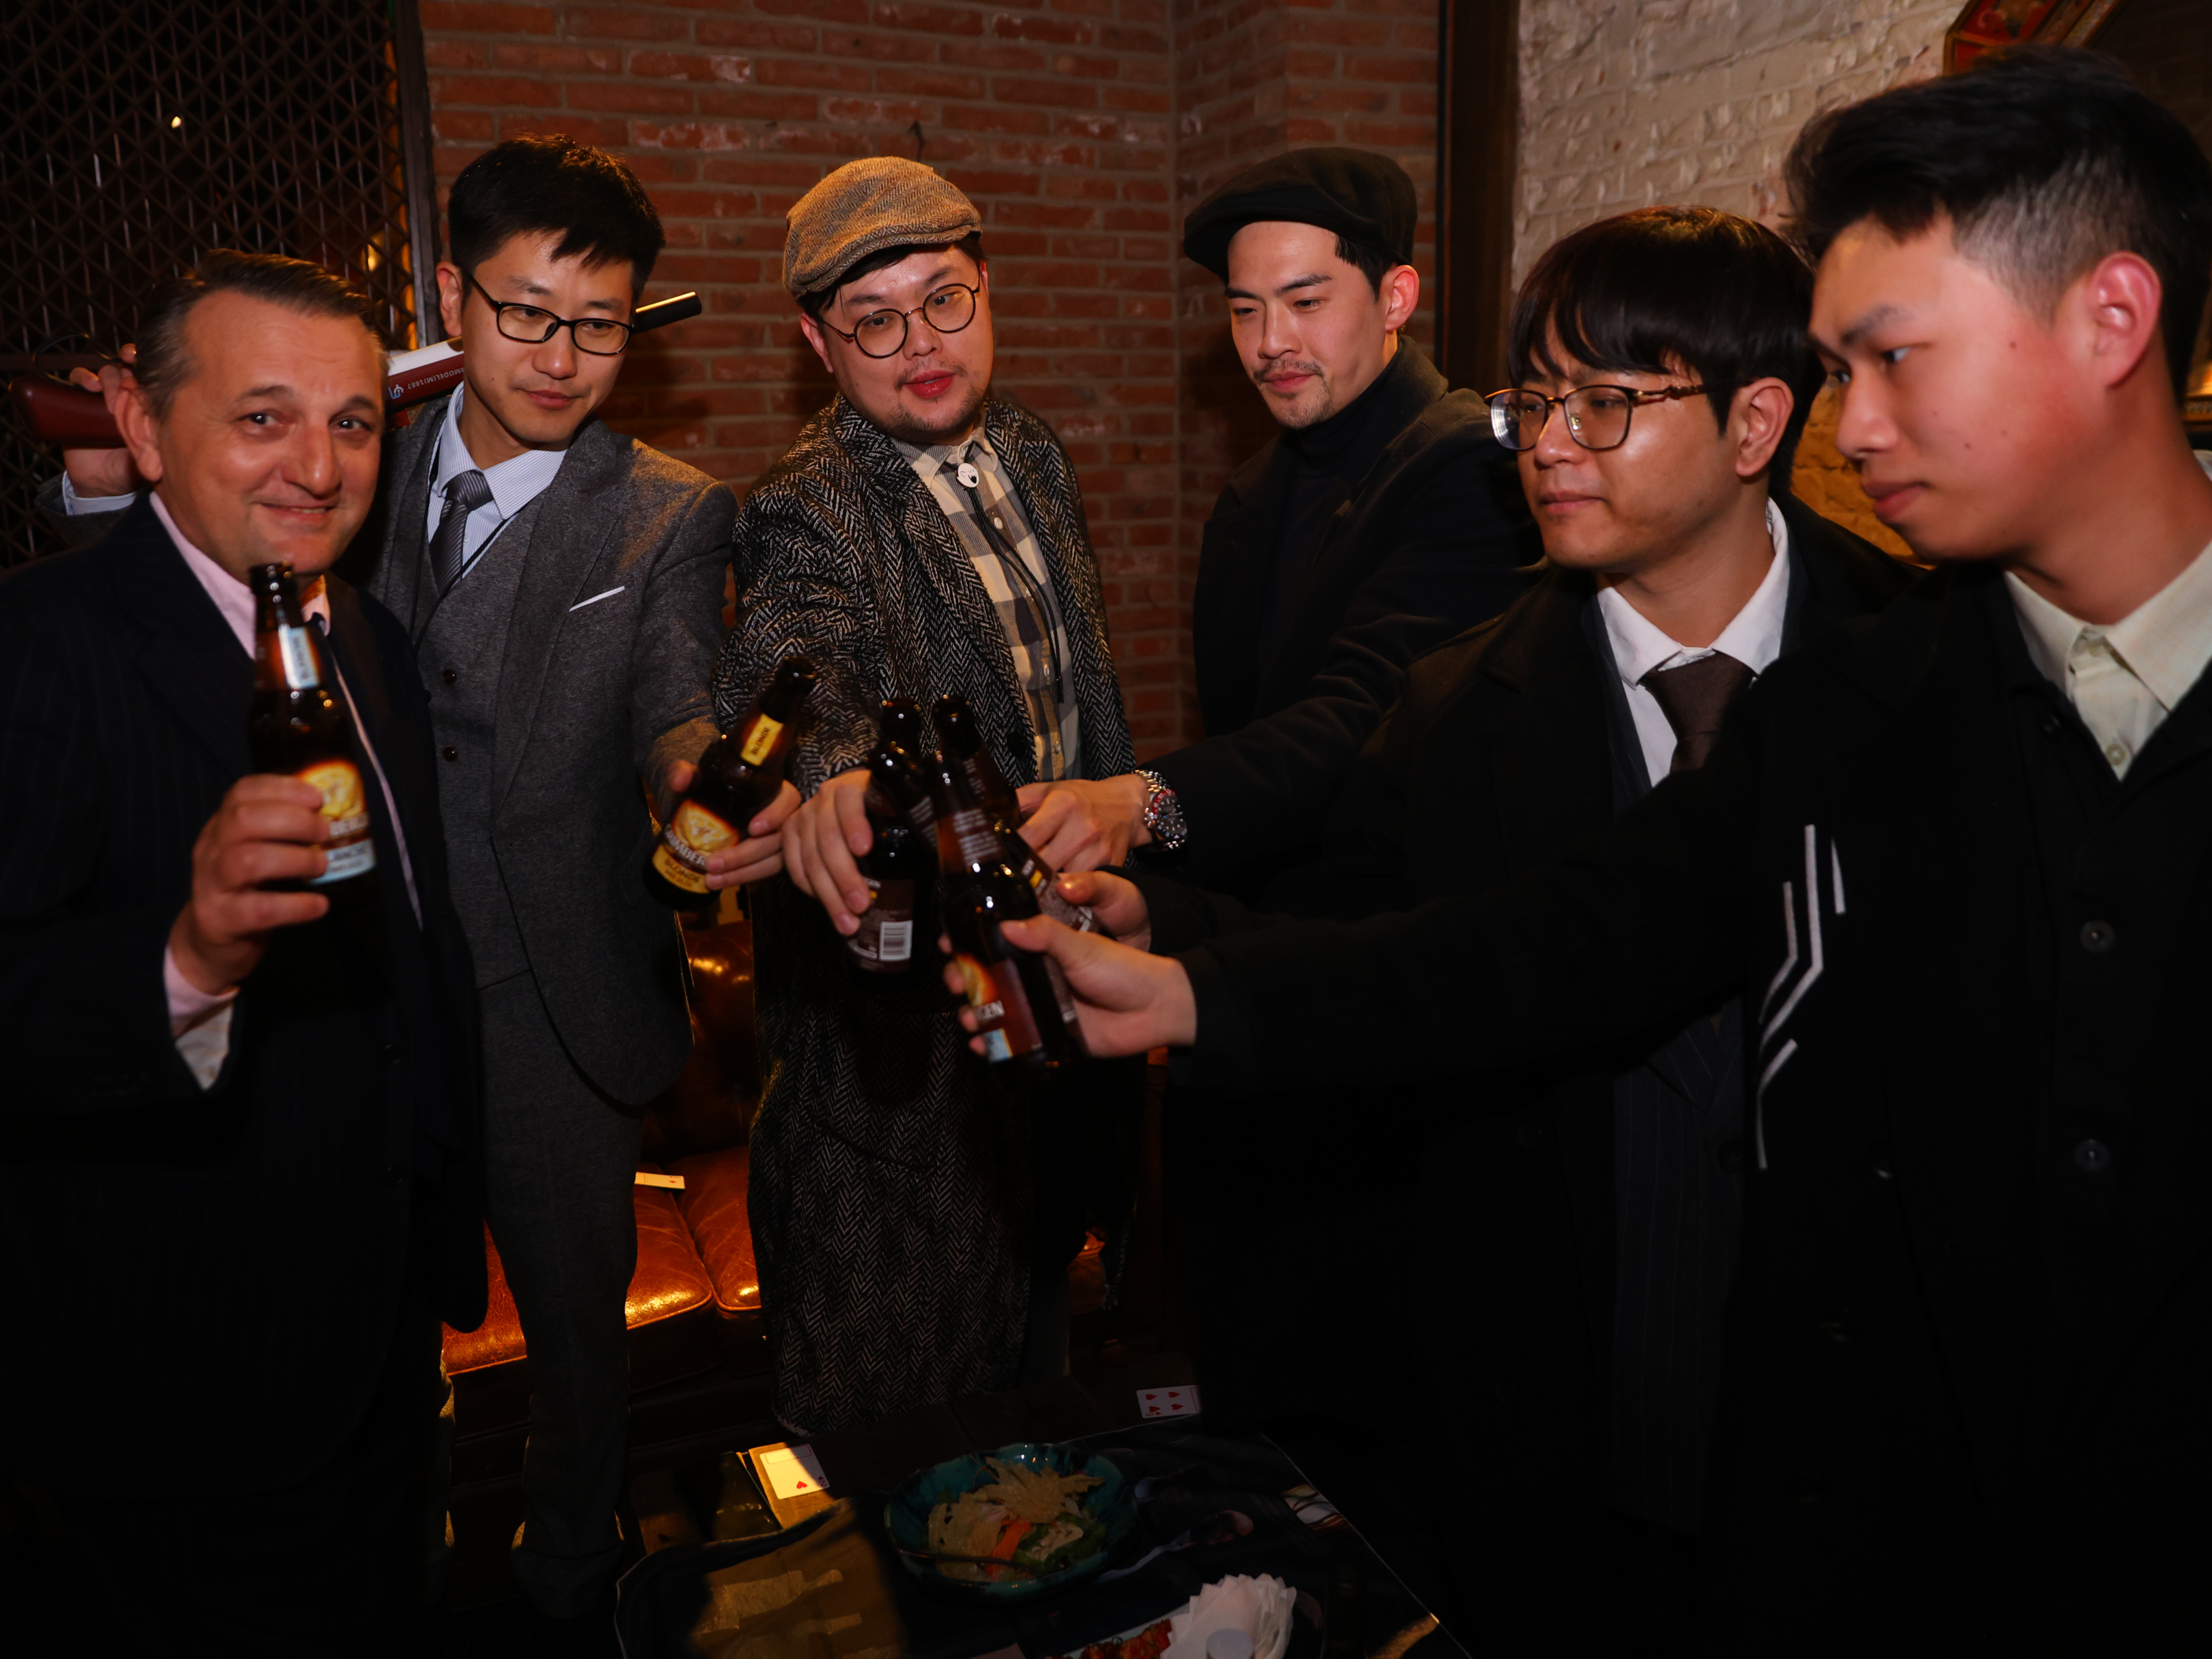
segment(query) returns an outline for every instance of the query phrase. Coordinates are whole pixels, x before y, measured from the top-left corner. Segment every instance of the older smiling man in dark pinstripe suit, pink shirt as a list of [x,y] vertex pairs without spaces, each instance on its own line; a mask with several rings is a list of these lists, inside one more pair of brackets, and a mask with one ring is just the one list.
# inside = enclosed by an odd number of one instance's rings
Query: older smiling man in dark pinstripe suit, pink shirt
[[[438,1318],[484,1314],[429,708],[323,575],[376,487],[365,310],[292,259],[179,279],[119,398],[153,493],[0,584],[0,1433],[131,1646],[405,1650]],[[361,739],[374,891],[338,911],[323,796],[248,757],[270,562]]]

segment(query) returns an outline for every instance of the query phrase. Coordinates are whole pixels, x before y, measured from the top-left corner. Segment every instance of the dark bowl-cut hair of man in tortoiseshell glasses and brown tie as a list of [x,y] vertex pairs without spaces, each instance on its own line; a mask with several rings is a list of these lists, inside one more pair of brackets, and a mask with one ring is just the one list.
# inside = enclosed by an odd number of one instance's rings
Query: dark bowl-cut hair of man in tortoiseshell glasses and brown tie
[[1767,376],[1796,407],[1767,462],[1787,493],[1790,462],[1827,378],[1805,334],[1812,268],[1783,237],[1719,208],[1637,208],[1562,237],[1513,299],[1506,374],[1586,369],[1690,374],[1721,431],[1736,392]]

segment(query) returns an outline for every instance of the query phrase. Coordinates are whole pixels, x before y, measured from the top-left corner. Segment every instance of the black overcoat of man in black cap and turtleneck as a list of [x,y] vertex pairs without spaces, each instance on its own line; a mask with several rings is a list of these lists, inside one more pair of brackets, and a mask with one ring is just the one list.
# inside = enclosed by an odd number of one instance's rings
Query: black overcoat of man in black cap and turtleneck
[[1413,345],[1374,385],[1371,453],[1303,568],[1276,580],[1279,509],[1296,476],[1283,438],[1239,467],[1199,544],[1190,641],[1206,741],[1152,770],[1183,801],[1190,880],[1259,891],[1265,872],[1312,849],[1360,743],[1398,697],[1405,666],[1495,617],[1542,555],[1513,460],[1473,392]]

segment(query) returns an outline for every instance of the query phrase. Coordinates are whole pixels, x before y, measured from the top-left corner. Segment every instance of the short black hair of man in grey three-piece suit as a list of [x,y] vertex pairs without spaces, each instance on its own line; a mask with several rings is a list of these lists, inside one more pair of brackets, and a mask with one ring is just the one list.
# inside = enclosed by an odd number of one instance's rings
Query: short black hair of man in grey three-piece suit
[[564,133],[504,139],[469,161],[453,179],[445,221],[453,263],[471,274],[513,237],[560,232],[555,259],[628,261],[633,299],[668,246],[637,175]]

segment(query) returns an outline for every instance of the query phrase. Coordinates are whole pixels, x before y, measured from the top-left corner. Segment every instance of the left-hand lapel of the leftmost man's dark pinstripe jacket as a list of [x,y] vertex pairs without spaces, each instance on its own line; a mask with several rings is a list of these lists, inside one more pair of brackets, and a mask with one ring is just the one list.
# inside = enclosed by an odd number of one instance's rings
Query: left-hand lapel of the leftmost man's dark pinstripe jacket
[[239,650],[215,599],[184,562],[148,498],[115,526],[100,557],[115,584],[115,606],[144,630],[137,672],[161,706],[199,739],[228,776],[246,776],[246,714],[254,659]]

